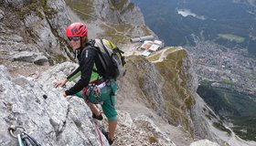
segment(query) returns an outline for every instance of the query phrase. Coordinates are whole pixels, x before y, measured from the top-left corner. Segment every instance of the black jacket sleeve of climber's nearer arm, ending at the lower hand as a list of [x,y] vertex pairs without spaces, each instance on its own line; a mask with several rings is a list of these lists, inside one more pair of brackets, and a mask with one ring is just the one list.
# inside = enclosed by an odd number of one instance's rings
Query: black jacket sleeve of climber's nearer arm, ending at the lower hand
[[66,90],[66,95],[73,95],[79,92],[81,89],[88,86],[91,72],[94,65],[94,56],[96,55],[95,50],[93,49],[86,49],[82,51],[81,60],[80,60],[80,71],[81,71],[81,78],[80,80],[71,88]]

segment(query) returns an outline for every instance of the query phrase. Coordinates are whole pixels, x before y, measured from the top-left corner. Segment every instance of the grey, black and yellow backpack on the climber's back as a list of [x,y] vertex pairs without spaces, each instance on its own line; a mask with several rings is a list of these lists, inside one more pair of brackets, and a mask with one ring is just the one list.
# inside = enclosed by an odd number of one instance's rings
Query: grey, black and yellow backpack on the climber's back
[[106,39],[94,39],[91,40],[91,44],[95,47],[101,59],[104,73],[100,75],[115,80],[122,78],[126,72],[123,51]]

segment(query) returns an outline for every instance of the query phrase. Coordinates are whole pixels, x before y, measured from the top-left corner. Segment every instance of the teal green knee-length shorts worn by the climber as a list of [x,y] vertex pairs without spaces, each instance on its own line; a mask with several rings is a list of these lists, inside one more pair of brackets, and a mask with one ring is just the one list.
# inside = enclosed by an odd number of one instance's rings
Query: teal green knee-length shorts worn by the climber
[[[101,107],[102,110],[104,112],[104,114],[106,115],[106,117],[108,118],[108,120],[112,121],[112,120],[117,120],[117,112],[114,108],[115,106],[115,92],[117,90],[117,85],[115,83],[115,81],[111,81],[111,86],[104,86],[101,89],[101,96],[100,97],[94,97],[93,95],[89,96],[87,99],[91,102],[91,103],[95,103],[95,101],[102,101]],[[112,95],[111,95],[112,93]],[[84,99],[83,95],[82,95],[82,90],[80,90],[80,92],[76,93],[75,96]]]

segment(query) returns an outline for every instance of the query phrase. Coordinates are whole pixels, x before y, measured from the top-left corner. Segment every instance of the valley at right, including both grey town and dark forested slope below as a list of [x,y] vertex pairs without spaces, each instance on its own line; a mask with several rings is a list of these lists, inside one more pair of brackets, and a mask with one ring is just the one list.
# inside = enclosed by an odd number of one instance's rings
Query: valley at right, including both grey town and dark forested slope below
[[199,96],[240,138],[256,141],[255,59],[242,49],[210,42],[186,48],[195,64]]

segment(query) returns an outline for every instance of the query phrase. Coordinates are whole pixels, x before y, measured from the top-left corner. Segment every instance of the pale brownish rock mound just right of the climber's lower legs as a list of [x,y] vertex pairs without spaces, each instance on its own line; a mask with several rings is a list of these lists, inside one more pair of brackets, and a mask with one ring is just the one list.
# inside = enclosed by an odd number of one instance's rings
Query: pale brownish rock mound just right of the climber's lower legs
[[153,120],[145,115],[131,118],[130,113],[120,110],[115,145],[163,145],[176,146]]

